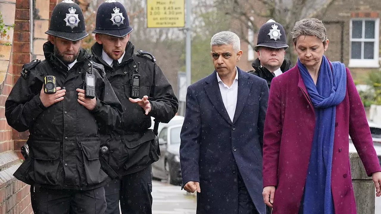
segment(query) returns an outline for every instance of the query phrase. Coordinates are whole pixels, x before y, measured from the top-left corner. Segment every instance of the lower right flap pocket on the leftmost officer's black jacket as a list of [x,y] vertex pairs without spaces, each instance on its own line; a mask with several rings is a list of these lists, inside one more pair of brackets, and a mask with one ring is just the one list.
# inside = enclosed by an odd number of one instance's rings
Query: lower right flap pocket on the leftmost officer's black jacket
[[99,161],[100,141],[79,142],[82,150],[83,168],[87,185],[95,185],[103,182],[107,178],[107,174],[101,169]]

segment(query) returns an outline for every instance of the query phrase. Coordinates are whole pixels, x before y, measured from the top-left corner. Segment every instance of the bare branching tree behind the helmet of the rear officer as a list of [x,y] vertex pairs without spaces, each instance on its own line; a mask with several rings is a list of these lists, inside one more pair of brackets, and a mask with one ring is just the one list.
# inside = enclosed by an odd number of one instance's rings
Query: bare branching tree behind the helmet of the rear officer
[[[247,38],[248,29],[258,33],[264,20],[274,19],[282,24],[286,31],[287,43],[292,44],[289,36],[296,21],[303,18],[322,18],[327,8],[335,0],[215,0],[217,10],[231,17],[239,37],[254,48],[256,45]],[[292,51],[287,51],[288,58],[293,59]]]

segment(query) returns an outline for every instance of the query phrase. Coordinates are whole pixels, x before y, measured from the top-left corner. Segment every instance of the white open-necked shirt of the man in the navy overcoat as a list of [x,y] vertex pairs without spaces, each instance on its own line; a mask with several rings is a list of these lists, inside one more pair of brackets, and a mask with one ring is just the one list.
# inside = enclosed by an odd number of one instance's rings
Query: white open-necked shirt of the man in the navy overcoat
[[217,73],[217,81],[219,91],[221,92],[222,101],[224,102],[225,109],[229,114],[230,120],[233,122],[235,107],[237,107],[238,96],[238,69],[235,67],[235,78],[233,84],[229,87],[219,77]]

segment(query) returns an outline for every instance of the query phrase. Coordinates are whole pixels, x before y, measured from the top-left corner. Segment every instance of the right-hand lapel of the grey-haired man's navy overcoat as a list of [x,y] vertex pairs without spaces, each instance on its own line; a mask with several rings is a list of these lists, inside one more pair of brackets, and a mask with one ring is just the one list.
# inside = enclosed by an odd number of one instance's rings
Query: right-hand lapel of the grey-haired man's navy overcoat
[[245,107],[247,99],[250,95],[251,85],[253,81],[248,80],[249,75],[238,68],[238,94],[237,94],[237,106],[235,107],[233,124],[238,120],[242,113],[243,107]]

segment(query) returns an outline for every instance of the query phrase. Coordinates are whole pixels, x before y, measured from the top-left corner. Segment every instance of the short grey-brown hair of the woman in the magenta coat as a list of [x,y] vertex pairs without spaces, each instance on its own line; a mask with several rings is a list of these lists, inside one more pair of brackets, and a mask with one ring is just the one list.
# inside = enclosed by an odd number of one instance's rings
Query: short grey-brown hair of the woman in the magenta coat
[[291,35],[294,45],[296,45],[298,38],[303,35],[312,35],[319,38],[324,45],[327,43],[327,29],[321,20],[315,18],[302,19],[295,22]]

